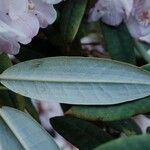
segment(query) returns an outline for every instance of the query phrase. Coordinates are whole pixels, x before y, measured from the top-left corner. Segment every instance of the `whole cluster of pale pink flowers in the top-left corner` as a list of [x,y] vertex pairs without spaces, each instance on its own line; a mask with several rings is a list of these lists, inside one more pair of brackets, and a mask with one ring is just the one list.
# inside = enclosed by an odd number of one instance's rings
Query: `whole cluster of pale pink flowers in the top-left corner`
[[0,0],[0,52],[17,54],[20,44],[28,44],[39,28],[52,24],[53,7],[61,0]]

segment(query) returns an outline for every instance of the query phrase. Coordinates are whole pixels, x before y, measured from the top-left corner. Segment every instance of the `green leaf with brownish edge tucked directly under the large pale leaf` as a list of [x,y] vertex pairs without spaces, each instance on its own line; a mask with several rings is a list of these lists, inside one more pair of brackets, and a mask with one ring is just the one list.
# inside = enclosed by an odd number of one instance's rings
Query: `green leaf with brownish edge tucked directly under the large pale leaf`
[[150,97],[112,106],[73,106],[66,114],[91,121],[115,121],[150,112]]

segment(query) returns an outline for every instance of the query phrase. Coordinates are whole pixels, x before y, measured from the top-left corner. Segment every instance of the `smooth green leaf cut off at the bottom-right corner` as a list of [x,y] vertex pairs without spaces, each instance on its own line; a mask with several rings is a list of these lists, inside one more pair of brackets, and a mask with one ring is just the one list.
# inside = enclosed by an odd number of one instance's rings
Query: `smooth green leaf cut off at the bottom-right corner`
[[120,138],[115,141],[100,145],[95,150],[149,150],[150,135],[133,136],[129,138]]

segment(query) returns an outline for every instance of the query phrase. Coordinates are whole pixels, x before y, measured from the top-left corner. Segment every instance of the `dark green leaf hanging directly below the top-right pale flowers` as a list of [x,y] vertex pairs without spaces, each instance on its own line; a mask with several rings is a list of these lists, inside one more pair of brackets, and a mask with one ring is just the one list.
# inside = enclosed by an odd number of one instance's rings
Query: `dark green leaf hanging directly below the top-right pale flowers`
[[101,29],[112,59],[135,64],[134,42],[125,24],[112,27],[101,23]]

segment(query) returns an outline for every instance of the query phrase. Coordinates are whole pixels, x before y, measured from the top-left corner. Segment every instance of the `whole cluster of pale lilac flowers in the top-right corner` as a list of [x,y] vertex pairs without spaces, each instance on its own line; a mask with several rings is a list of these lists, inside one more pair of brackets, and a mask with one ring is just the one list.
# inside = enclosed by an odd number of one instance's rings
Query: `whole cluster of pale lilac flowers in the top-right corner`
[[124,21],[134,38],[150,43],[149,0],[98,0],[90,10],[89,21],[99,19],[112,26]]

